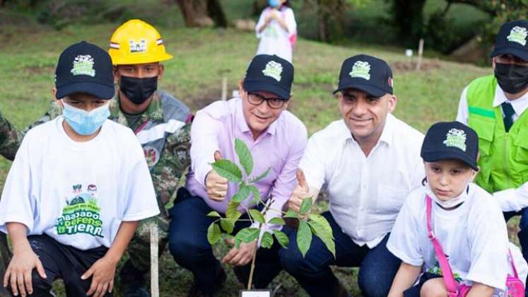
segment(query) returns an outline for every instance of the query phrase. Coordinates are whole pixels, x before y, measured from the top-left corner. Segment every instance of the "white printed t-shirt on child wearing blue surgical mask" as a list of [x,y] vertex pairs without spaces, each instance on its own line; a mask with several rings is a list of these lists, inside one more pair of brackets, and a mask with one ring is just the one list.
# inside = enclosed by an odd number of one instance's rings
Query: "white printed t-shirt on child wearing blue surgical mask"
[[25,135],[0,200],[6,223],[80,250],[110,248],[122,221],[159,214],[143,149],[131,129],[106,120],[98,136],[76,142],[63,117]]

